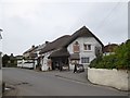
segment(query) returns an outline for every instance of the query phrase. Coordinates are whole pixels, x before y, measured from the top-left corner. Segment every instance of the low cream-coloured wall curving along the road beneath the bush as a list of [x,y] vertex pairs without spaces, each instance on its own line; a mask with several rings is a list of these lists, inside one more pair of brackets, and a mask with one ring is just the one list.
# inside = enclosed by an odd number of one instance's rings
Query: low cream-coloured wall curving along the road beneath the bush
[[88,79],[91,83],[130,90],[130,77],[127,70],[106,70],[88,68]]

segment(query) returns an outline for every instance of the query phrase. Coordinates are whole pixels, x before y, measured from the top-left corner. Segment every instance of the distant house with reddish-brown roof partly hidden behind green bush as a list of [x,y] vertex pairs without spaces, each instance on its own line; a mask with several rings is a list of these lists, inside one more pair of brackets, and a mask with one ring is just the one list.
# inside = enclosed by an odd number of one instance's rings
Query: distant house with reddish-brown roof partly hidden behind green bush
[[115,49],[118,47],[117,44],[108,44],[103,49],[103,56],[109,56],[115,53]]

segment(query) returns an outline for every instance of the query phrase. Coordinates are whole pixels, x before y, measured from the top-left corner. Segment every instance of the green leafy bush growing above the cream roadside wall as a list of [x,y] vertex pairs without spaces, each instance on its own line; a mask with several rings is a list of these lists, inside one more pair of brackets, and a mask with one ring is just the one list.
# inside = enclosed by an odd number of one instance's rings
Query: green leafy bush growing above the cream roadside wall
[[130,70],[130,40],[115,49],[115,54],[94,59],[90,68]]

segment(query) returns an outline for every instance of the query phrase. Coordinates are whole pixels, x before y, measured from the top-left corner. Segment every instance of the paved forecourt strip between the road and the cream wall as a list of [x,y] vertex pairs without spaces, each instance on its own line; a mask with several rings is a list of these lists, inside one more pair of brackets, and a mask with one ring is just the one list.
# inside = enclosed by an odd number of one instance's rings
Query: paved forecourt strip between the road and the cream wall
[[[48,74],[50,73],[50,74],[53,74],[56,77],[70,79],[70,81],[78,82],[78,83],[83,83],[83,84],[87,84],[87,85],[93,85],[93,86],[99,86],[99,87],[119,90],[119,89],[110,87],[110,86],[105,86],[105,85],[99,85],[99,84],[91,83],[88,79],[87,69],[84,70],[84,72],[81,72],[81,73],[74,73],[74,71],[49,71],[49,72],[44,72],[44,73],[48,73]],[[122,91],[122,90],[120,90],[120,91]]]

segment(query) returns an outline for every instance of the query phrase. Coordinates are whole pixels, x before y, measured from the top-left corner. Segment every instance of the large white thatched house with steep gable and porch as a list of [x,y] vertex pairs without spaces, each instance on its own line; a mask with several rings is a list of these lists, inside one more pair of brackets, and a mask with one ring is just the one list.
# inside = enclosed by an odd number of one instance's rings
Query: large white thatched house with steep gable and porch
[[103,51],[103,44],[86,26],[73,35],[65,35],[52,42],[49,42],[41,51],[41,70],[61,70],[68,66],[83,64],[84,69],[96,57],[96,50]]

